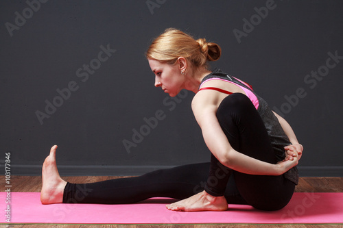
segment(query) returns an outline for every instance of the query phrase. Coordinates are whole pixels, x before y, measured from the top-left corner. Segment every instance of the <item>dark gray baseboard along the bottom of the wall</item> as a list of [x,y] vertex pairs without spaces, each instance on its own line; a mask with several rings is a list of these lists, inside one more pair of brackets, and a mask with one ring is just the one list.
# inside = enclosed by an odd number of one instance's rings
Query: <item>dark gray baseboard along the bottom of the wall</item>
[[[137,176],[172,167],[175,166],[58,166],[58,170],[61,176]],[[298,170],[300,177],[343,177],[343,166],[298,166]],[[39,176],[41,172],[42,166],[38,165],[11,166],[11,175]]]

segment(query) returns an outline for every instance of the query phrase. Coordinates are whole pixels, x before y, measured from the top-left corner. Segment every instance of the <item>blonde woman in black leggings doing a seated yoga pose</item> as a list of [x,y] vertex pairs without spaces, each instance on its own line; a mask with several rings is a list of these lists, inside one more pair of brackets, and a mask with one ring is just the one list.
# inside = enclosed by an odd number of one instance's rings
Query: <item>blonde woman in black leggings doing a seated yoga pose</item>
[[155,86],[171,97],[193,91],[193,114],[211,151],[211,162],[156,170],[140,177],[97,183],[67,183],[56,167],[56,148],[43,164],[42,203],[135,203],[150,197],[181,199],[168,210],[222,211],[228,203],[279,210],[298,183],[303,151],[289,124],[252,88],[208,61],[221,49],[167,29],[147,50]]

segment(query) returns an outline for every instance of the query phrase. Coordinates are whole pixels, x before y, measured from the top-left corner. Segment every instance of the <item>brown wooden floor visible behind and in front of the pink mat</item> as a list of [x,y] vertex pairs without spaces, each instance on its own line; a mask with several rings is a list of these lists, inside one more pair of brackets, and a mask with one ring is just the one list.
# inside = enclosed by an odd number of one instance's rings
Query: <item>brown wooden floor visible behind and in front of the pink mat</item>
[[[72,183],[88,183],[94,181],[104,181],[107,179],[113,179],[116,177],[62,177],[65,181]],[[42,188],[41,177],[28,177],[28,176],[12,176],[12,192],[40,192]],[[296,186],[296,192],[343,192],[343,177],[301,177],[298,186]],[[43,227],[62,227],[62,228],[134,228],[134,227],[167,227],[167,228],[222,228],[222,227],[245,227],[245,228],[263,228],[263,227],[297,227],[297,228],[310,228],[310,227],[340,227],[340,224],[330,225],[237,225],[237,224],[197,224],[197,225],[0,225],[0,227],[14,227],[14,228],[43,228]]]

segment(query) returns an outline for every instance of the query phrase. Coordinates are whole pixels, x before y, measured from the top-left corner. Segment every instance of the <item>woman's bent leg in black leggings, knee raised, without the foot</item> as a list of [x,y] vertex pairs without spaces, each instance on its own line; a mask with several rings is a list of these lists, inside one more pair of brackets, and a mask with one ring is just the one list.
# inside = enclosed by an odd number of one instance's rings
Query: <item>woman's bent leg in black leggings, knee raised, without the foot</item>
[[[276,157],[268,132],[250,99],[244,94],[231,94],[217,110],[217,118],[233,149],[264,162],[276,164]],[[212,156],[210,175],[222,164]],[[213,175],[214,173],[214,175]],[[248,204],[263,210],[284,207],[294,192],[294,183],[281,176],[247,175],[229,170],[217,178],[216,184],[207,181],[206,192],[214,196],[224,194],[230,175],[234,175],[237,189]],[[211,177],[210,177],[211,178]],[[212,181],[213,183],[213,181]]]

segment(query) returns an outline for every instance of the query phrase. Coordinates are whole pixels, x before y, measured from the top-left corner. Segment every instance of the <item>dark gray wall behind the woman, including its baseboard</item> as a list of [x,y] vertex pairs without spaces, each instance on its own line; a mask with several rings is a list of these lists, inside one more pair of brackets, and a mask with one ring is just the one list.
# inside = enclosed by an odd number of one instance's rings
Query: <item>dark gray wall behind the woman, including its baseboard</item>
[[342,1],[8,0],[0,9],[0,160],[11,153],[12,175],[40,175],[54,144],[61,175],[208,161],[193,94],[154,88],[144,58],[167,27],[220,44],[211,68],[248,81],[285,116],[305,147],[300,175],[343,175]]

